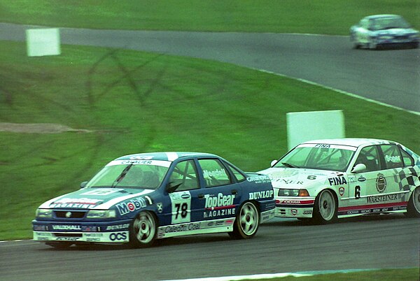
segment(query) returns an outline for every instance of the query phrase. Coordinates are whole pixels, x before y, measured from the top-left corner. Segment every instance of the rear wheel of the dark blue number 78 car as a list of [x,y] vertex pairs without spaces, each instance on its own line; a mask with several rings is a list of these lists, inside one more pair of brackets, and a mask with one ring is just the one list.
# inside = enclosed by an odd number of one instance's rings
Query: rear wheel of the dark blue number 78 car
[[260,225],[260,213],[252,202],[245,202],[240,208],[233,231],[229,232],[230,237],[236,239],[248,239],[255,236]]

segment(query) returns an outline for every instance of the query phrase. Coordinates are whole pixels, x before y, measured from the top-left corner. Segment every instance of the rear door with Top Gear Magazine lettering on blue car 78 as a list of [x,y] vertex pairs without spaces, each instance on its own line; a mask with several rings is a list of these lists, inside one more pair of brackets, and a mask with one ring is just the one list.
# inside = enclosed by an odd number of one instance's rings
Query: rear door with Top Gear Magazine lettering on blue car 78
[[202,201],[204,220],[235,217],[241,203],[241,189],[235,176],[220,159],[198,159],[204,189]]

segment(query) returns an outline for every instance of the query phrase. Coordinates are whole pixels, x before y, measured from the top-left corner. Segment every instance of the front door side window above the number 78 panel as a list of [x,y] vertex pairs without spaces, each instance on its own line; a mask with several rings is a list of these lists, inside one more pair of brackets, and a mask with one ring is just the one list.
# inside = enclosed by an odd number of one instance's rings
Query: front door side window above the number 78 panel
[[200,188],[194,161],[187,160],[176,164],[169,177],[169,183],[172,187],[177,186],[176,192]]

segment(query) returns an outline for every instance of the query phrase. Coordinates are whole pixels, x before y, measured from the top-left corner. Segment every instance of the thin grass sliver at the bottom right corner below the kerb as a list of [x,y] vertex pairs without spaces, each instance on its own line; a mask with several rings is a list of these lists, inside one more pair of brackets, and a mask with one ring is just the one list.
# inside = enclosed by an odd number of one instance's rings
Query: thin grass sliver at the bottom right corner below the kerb
[[284,278],[262,279],[269,281],[418,281],[420,275],[420,268],[403,268],[403,269],[381,269],[374,271],[360,271],[349,273],[331,273],[320,274],[302,277],[287,276]]

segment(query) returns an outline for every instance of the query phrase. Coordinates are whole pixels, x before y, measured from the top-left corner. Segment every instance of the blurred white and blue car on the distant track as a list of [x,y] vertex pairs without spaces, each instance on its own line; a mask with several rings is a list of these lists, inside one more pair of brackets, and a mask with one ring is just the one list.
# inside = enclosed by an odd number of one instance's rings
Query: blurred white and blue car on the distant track
[[354,48],[377,49],[392,45],[419,47],[420,33],[400,15],[370,15],[350,28]]

